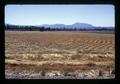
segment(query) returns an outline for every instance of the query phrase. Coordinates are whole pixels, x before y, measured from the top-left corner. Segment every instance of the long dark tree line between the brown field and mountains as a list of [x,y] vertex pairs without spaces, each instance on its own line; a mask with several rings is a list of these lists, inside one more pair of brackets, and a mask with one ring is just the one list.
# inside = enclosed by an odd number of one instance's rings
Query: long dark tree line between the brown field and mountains
[[114,28],[95,27],[93,29],[86,28],[50,28],[50,27],[38,27],[38,26],[19,26],[19,25],[5,25],[5,30],[11,31],[114,31]]

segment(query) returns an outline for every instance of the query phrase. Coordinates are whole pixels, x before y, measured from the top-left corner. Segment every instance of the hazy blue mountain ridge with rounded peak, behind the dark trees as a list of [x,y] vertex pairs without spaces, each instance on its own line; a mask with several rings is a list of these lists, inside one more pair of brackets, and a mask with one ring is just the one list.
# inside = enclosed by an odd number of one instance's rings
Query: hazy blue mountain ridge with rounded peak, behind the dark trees
[[79,28],[94,28],[93,25],[91,24],[87,24],[87,23],[74,23],[72,25],[65,25],[65,24],[52,24],[52,25],[49,25],[49,24],[43,24],[43,25],[40,25],[40,26],[44,26],[44,27],[50,27],[50,28],[76,28],[76,29],[79,29]]

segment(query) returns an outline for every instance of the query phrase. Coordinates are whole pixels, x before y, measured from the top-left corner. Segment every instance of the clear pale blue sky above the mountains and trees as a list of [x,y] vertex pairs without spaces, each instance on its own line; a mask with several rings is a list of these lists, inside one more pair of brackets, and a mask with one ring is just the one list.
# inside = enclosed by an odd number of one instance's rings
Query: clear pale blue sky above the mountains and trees
[[113,5],[6,5],[5,23],[15,25],[88,23],[114,26]]

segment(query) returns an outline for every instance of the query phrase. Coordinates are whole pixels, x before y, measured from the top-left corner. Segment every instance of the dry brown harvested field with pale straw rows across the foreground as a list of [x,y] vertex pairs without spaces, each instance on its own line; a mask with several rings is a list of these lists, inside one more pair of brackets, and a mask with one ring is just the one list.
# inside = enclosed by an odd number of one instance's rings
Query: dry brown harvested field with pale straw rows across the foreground
[[5,31],[7,79],[114,78],[115,35]]

